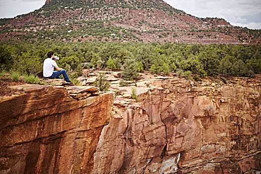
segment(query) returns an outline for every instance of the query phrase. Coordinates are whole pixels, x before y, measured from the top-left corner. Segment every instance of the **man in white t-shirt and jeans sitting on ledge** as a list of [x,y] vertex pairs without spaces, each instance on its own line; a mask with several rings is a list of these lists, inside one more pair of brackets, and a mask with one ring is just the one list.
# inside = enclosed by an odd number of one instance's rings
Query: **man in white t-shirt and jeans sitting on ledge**
[[[53,58],[55,60],[53,60]],[[62,79],[60,75],[63,75],[65,81],[70,83],[68,85],[73,86],[74,84],[70,81],[66,71],[57,66],[56,64],[57,58],[58,58],[57,56],[54,56],[53,51],[49,51],[47,53],[47,59],[44,60],[44,65],[43,65],[43,77],[49,79],[55,79],[55,78]],[[54,68],[56,68],[56,70],[58,71],[54,71]]]

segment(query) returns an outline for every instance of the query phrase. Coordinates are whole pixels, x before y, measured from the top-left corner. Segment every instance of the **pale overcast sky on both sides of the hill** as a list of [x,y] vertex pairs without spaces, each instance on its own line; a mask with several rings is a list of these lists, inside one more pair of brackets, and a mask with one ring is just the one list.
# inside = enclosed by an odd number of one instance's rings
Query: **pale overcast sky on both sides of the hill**
[[[164,0],[196,17],[221,17],[230,24],[261,29],[261,0]],[[0,0],[0,18],[40,8],[45,0]]]

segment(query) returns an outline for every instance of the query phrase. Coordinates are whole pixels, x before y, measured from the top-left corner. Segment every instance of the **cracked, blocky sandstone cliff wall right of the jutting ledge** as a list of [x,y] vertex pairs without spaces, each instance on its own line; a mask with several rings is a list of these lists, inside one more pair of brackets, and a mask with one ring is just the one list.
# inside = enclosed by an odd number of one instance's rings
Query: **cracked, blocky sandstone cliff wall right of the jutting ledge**
[[138,102],[116,97],[92,174],[260,173],[261,83],[252,81],[151,80],[137,85]]

